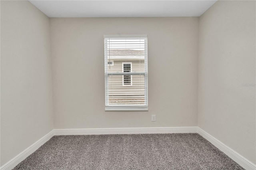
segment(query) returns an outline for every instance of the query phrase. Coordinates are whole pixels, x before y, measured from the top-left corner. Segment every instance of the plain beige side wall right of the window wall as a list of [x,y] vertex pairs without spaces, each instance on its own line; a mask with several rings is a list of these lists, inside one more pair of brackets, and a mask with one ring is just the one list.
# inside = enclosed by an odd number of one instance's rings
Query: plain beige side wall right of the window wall
[[254,164],[255,16],[255,1],[216,2],[200,17],[198,64],[198,126]]

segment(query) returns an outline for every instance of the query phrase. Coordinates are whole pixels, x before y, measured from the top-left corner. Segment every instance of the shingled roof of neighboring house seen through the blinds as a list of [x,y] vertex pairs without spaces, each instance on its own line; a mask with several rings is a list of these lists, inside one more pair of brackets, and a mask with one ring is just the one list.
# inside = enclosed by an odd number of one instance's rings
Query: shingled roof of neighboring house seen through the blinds
[[145,50],[135,50],[135,49],[110,49],[107,54],[111,59],[120,58],[144,58]]

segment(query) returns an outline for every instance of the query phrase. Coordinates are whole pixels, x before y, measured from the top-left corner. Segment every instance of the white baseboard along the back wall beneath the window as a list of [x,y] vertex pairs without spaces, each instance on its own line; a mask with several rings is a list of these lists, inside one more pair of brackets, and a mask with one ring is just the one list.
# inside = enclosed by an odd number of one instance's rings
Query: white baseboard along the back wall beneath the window
[[55,135],[196,133],[197,127],[54,129]]

